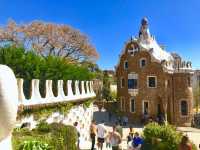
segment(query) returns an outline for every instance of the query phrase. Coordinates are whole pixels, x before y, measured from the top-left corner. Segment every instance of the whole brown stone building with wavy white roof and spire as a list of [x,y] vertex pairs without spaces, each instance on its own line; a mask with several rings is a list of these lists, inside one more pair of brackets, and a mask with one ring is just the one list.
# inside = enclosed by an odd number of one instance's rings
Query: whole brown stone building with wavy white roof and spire
[[143,18],[139,36],[126,42],[116,66],[120,109],[131,122],[159,115],[189,126],[193,117],[191,62],[168,53],[150,35]]

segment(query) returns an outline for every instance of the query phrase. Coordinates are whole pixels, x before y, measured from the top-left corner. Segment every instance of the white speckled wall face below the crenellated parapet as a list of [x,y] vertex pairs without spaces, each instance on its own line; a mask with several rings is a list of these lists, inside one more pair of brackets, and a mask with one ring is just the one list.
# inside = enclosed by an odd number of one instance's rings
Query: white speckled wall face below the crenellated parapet
[[[93,119],[93,104],[88,108],[85,108],[82,104],[74,106],[67,115],[62,115],[59,112],[52,113],[46,121],[48,123],[63,123],[65,125],[72,125],[74,122],[78,122],[77,130],[80,133],[80,148],[84,148],[84,145],[90,141],[90,124]],[[33,115],[24,117],[18,121],[17,126],[20,127],[23,123],[29,123],[30,128],[36,127],[38,120],[35,120]]]

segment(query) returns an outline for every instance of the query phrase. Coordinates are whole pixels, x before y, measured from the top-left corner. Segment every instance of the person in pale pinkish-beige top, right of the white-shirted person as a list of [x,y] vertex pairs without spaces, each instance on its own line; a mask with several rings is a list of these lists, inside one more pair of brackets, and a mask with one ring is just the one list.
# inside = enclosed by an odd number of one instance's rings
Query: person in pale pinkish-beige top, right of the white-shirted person
[[120,134],[116,131],[116,126],[113,126],[113,131],[110,133],[110,144],[112,146],[112,150],[119,150],[121,140]]

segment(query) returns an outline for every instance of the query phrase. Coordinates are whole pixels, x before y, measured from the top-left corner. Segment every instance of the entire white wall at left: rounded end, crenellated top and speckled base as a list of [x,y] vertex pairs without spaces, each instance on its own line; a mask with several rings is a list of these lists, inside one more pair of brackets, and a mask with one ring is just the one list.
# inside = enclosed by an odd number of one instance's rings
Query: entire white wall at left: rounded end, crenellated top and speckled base
[[[45,96],[42,97],[39,90],[38,79],[31,80],[31,88],[28,91],[30,98],[25,98],[24,80],[16,79],[13,71],[5,66],[0,65],[0,149],[11,150],[11,133],[16,124],[17,109],[35,106],[52,106],[62,103],[75,103],[66,115],[59,112],[53,112],[47,122],[62,122],[64,124],[73,124],[78,122],[80,132],[80,144],[89,140],[89,125],[93,117],[92,104],[85,108],[79,102],[95,98],[92,81],[75,81],[75,90],[72,90],[72,80],[67,81],[67,88],[63,87],[63,80],[57,82],[58,94],[53,94],[52,80],[45,81]],[[80,82],[80,84],[79,84]],[[81,85],[81,86],[79,86]],[[67,89],[67,91],[64,91]],[[67,94],[65,94],[67,93]],[[31,128],[34,128],[37,121],[33,116],[22,117],[18,125],[23,122],[30,122]]]

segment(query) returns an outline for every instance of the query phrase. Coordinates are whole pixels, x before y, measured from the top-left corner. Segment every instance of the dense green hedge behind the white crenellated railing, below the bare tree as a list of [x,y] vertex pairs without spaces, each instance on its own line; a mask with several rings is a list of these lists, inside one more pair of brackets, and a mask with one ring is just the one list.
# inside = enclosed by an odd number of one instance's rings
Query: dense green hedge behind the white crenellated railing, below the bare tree
[[0,48],[0,64],[11,67],[17,78],[26,80],[91,80],[96,73],[88,66],[71,63],[58,56],[42,57],[34,51],[22,47],[5,46]]

